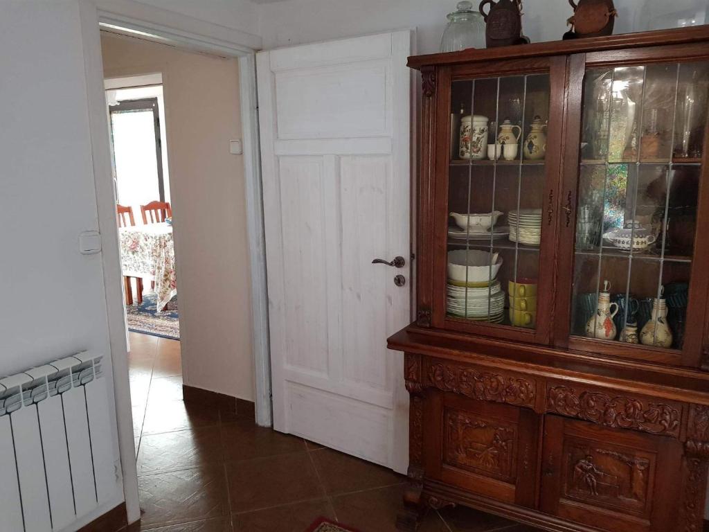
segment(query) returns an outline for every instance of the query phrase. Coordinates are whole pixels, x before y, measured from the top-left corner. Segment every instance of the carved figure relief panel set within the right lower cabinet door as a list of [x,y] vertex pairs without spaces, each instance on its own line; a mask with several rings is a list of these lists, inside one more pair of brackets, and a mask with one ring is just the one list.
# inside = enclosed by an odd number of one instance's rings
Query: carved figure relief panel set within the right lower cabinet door
[[656,460],[642,450],[567,438],[562,497],[649,519]]

